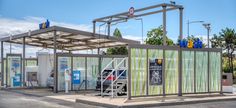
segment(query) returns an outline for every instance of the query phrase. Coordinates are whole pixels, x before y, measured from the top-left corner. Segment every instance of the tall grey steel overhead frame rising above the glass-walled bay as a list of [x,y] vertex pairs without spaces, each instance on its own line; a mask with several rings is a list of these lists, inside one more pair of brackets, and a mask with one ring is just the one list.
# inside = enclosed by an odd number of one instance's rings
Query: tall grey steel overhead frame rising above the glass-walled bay
[[[162,8],[159,10],[154,10],[157,8]],[[175,4],[168,4],[168,3],[162,3],[157,4],[145,8],[140,8],[134,10],[134,15],[130,16],[129,12],[123,12],[118,13],[115,15],[110,15],[102,18],[97,18],[93,20],[93,33],[96,33],[96,22],[102,22],[106,23],[108,25],[108,36],[110,36],[110,26],[111,23],[119,22],[119,21],[127,21],[128,19],[137,18],[141,16],[147,16],[151,14],[157,14],[157,13],[163,13],[163,45],[166,45],[166,12],[179,9],[179,39],[183,38],[183,9],[184,7],[182,5],[175,5]],[[148,11],[152,10],[152,11]]]

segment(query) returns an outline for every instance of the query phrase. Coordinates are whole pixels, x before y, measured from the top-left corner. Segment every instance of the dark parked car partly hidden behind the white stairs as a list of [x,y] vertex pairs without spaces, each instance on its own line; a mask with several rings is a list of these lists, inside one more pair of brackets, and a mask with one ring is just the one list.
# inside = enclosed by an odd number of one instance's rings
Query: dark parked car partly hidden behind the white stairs
[[[117,76],[119,76],[124,70],[118,70]],[[110,73],[112,72],[112,69],[106,69],[103,72],[103,79],[105,79]],[[113,75],[110,75],[107,80],[104,81],[103,83],[103,90],[105,91],[111,84],[112,79],[115,80],[116,77],[115,72],[113,72]],[[126,71],[119,77],[119,79],[126,79]],[[126,84],[127,85],[127,84]],[[124,91],[126,92],[126,85],[124,86]],[[97,86],[96,90],[101,90],[101,75],[97,77]]]

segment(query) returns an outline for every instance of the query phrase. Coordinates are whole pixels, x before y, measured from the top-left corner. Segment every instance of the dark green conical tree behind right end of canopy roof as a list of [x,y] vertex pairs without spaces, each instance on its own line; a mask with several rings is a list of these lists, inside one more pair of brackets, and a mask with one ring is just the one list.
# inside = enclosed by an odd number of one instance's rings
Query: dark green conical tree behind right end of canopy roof
[[[122,38],[121,32],[118,28],[115,29],[113,32],[113,36],[116,38]],[[107,54],[108,55],[127,55],[128,50],[126,47],[115,47],[115,48],[108,48],[107,49]]]

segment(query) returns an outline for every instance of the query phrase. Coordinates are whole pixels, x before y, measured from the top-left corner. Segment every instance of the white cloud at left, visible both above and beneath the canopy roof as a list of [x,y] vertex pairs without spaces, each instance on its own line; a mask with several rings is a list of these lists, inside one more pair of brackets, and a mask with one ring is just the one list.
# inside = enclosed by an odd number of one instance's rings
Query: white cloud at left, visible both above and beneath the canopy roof
[[[5,18],[0,16],[0,38],[7,37],[10,35],[15,35],[19,33],[24,33],[29,30],[36,30],[39,27],[39,23],[46,21],[45,18],[42,17],[24,17],[22,19],[12,19],[12,18]],[[92,26],[87,24],[70,24],[65,22],[57,22],[57,21],[50,21],[51,26],[62,26],[67,28],[73,28],[83,31],[92,31]],[[41,50],[42,48],[30,47],[27,46],[27,56],[35,57],[36,52]],[[10,52],[10,45],[8,43],[4,44],[4,52]],[[12,45],[12,53],[21,53],[22,46],[21,45]]]

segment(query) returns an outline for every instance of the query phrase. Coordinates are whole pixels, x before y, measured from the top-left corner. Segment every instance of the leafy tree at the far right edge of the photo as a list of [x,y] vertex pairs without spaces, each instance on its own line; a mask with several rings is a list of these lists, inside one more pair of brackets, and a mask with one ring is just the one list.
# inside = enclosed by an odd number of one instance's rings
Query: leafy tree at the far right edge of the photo
[[236,47],[236,33],[234,29],[225,28],[219,32],[219,35],[214,34],[211,39],[212,47],[223,48],[227,50],[228,66],[230,73],[233,73],[233,52]]

